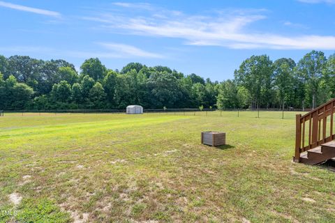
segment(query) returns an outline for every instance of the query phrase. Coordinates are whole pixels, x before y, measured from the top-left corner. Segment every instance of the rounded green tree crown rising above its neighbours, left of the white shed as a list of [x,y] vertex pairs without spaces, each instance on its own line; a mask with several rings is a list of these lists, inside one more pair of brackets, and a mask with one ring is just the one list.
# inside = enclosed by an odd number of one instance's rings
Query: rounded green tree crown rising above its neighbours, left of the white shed
[[107,69],[98,58],[85,60],[82,66],[80,66],[80,69],[82,70],[82,76],[88,75],[95,81],[102,80],[107,73]]

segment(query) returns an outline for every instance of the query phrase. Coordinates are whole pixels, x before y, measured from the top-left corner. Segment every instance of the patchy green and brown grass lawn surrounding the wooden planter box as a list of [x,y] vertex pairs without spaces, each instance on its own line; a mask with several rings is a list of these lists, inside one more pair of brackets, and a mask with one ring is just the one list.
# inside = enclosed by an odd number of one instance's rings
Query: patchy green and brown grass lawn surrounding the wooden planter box
[[5,114],[0,221],[335,222],[335,173],[292,162],[295,113],[256,113]]

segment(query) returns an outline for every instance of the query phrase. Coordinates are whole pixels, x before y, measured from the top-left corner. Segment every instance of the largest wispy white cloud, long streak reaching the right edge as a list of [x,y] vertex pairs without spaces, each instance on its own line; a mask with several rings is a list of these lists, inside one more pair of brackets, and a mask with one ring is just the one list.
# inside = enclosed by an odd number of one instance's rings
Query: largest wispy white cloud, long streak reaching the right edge
[[[154,12],[133,14],[96,13],[84,20],[100,24],[101,29],[139,36],[179,38],[186,45],[211,45],[233,49],[335,49],[335,36],[284,36],[253,29],[267,19],[265,10],[223,10],[216,14],[186,15],[156,8]],[[157,17],[156,15],[160,15]]]

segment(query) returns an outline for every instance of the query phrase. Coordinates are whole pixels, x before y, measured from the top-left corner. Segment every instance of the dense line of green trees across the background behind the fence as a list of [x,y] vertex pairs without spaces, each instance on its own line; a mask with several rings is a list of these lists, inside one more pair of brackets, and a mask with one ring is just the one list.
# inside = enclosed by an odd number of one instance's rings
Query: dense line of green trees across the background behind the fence
[[80,73],[64,60],[0,56],[0,109],[314,108],[335,96],[335,54],[312,51],[295,63],[251,56],[234,79],[211,82],[165,66],[107,69],[87,59]]

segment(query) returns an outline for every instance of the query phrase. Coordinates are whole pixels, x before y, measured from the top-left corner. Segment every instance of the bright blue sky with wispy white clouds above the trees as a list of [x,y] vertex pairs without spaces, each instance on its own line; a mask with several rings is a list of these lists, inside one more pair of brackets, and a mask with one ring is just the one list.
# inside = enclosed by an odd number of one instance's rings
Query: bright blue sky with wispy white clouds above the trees
[[222,81],[244,59],[335,52],[335,0],[0,1],[0,54],[98,57],[169,66]]

